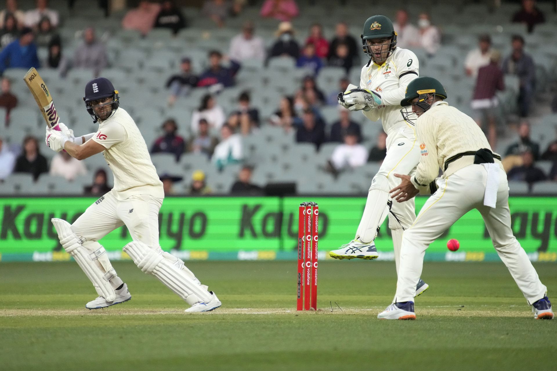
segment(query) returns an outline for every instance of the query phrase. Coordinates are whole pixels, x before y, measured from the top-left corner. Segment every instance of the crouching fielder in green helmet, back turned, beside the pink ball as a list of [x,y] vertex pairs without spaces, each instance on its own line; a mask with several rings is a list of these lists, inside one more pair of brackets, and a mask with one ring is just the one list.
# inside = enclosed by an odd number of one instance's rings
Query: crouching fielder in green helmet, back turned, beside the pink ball
[[[491,152],[486,136],[467,115],[444,102],[447,93],[432,77],[408,85],[400,105],[403,116],[418,115],[416,130],[421,159],[416,174],[398,175],[402,183],[390,192],[403,202],[416,194],[433,193],[416,222],[404,231],[400,249],[397,293],[380,319],[416,319],[414,294],[429,244],[471,209],[486,223],[495,250],[532,305],[534,318],[552,319],[545,287],[520,243],[512,235],[509,183],[501,157]],[[437,178],[439,167],[443,170]],[[437,179],[436,179],[437,178]]]

